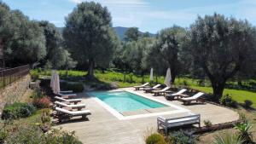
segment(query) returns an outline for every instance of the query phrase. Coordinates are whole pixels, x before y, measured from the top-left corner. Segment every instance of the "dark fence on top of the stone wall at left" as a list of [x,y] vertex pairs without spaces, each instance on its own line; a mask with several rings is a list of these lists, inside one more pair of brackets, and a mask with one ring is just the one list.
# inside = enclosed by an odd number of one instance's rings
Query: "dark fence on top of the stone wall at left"
[[12,84],[29,73],[29,65],[0,70],[0,89]]

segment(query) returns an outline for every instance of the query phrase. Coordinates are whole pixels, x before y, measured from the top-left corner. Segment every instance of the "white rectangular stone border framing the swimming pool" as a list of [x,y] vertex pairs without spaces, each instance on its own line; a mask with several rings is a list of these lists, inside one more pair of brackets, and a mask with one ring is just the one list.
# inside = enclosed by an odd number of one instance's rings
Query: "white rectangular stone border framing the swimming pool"
[[144,98],[147,98],[151,101],[156,101],[156,102],[160,102],[161,104],[164,104],[168,107],[174,107],[176,110],[172,110],[172,111],[166,111],[166,112],[152,112],[152,113],[145,113],[145,114],[135,114],[135,115],[131,115],[131,116],[124,116],[121,113],[119,113],[118,111],[116,111],[115,109],[113,109],[112,107],[108,106],[108,104],[106,104],[104,101],[100,100],[99,98],[97,98],[96,96],[90,95],[88,93],[86,93],[87,95],[89,95],[92,99],[94,99],[95,101],[97,101],[98,104],[100,104],[102,107],[104,107],[106,110],[108,110],[108,112],[112,113],[114,117],[118,118],[119,120],[129,120],[129,119],[135,119],[135,118],[147,118],[147,117],[154,117],[154,116],[159,116],[159,115],[167,115],[167,114],[176,114],[176,113],[183,113],[183,112],[190,112],[190,110],[183,108],[183,107],[178,107],[174,104],[168,103],[166,101],[160,101],[158,99],[155,99],[153,97],[149,97],[147,95],[141,95],[136,93],[136,91],[132,91],[132,90],[126,90],[126,89],[115,89],[115,90],[108,90],[109,92],[114,92],[114,91],[126,91],[135,95],[139,95],[142,96]]

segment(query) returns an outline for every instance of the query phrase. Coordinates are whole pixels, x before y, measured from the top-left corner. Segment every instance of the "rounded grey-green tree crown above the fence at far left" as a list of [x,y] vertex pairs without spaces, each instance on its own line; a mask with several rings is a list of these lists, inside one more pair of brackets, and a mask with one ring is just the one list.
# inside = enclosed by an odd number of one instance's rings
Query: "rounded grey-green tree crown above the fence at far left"
[[[46,55],[43,29],[19,10],[9,11],[8,37],[3,37],[3,53],[8,66],[32,64]],[[25,56],[26,55],[26,56]]]

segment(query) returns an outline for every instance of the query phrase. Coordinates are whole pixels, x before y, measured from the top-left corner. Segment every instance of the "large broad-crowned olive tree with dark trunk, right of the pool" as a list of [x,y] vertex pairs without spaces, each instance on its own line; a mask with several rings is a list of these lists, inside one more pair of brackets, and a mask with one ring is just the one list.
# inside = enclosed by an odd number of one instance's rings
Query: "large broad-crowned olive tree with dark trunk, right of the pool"
[[247,20],[213,14],[199,16],[190,31],[190,54],[207,74],[218,100],[226,81],[239,72],[253,54],[255,29]]

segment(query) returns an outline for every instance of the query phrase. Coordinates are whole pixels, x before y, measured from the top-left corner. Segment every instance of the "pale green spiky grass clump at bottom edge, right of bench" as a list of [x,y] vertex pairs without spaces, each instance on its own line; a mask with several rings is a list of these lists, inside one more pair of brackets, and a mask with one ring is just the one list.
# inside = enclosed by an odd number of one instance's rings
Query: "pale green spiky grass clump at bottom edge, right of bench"
[[216,135],[212,144],[242,144],[243,140],[238,136],[230,133]]

